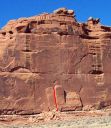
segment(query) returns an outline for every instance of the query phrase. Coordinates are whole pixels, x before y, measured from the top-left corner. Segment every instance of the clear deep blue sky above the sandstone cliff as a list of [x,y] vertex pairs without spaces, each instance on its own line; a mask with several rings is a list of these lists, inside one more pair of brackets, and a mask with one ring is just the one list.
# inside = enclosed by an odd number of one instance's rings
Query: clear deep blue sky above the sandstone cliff
[[92,16],[111,26],[111,0],[0,0],[0,28],[11,19],[50,13],[60,7],[75,10],[78,21]]

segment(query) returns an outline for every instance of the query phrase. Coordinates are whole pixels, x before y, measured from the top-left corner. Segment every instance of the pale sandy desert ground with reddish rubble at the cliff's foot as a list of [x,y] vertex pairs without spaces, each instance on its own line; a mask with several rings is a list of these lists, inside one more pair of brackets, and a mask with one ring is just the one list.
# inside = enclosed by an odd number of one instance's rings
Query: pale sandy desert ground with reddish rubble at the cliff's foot
[[0,128],[111,128],[111,111],[0,116]]

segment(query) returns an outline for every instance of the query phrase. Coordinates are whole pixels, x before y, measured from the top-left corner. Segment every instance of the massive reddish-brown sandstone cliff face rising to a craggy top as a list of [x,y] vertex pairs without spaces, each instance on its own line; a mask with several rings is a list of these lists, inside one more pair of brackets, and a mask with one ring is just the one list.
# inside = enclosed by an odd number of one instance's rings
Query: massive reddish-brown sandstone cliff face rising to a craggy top
[[65,8],[9,21],[0,30],[0,114],[111,106],[111,27],[99,21],[78,23]]

